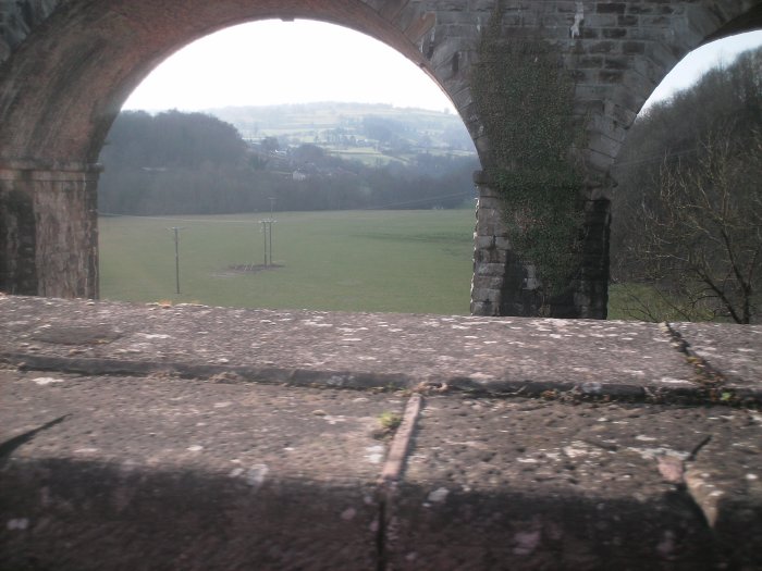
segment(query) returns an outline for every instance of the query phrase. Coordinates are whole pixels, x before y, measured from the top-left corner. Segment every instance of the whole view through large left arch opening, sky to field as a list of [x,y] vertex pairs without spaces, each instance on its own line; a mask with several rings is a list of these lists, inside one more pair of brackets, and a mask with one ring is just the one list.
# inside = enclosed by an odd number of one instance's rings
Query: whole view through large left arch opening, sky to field
[[[317,53],[308,58],[283,53],[279,46],[294,42],[296,34],[311,45],[333,38],[337,48],[316,47]],[[479,162],[440,87],[416,65],[380,46],[322,23],[258,22],[209,36],[160,65],[125,107],[158,111],[177,103],[186,111],[205,110],[234,125],[246,145],[235,148],[229,137],[231,154],[241,154],[237,162],[216,157],[199,170],[204,159],[175,164],[172,161],[182,158],[170,157],[161,146],[168,147],[163,141],[177,129],[186,129],[183,147],[207,142],[209,150],[216,150],[225,146],[214,131],[222,124],[212,123],[204,140],[198,128],[209,121],[200,115],[172,111],[152,117],[120,116],[112,129],[118,133],[109,135],[101,153],[106,171],[99,182],[100,210],[148,218],[134,219],[133,226],[130,220],[100,220],[101,297],[273,309],[468,313],[471,177]],[[246,55],[235,57],[231,50]],[[272,65],[242,61],[265,53]],[[233,82],[219,72],[220,60],[231,57],[238,62],[231,62],[224,74],[256,70],[256,82]],[[205,60],[217,70],[207,71]],[[360,64],[369,72],[357,70]],[[320,90],[321,85],[302,85],[292,95],[299,83],[310,82],[310,74],[312,82],[344,82],[344,88],[329,91]],[[345,77],[352,84],[370,85],[355,89]],[[419,77],[422,82],[416,84]],[[213,99],[211,94],[206,99],[204,94],[183,98],[183,91],[226,80],[235,85],[213,86]],[[437,92],[414,99],[408,91],[421,84]],[[168,85],[171,96],[162,92]],[[259,86],[267,92],[232,94]],[[318,95],[310,95],[310,89]],[[406,92],[397,94],[401,89]],[[364,99],[365,103],[356,102]],[[288,105],[265,104],[274,101]],[[429,109],[398,109],[417,103]],[[142,145],[127,140],[137,129],[144,129]],[[213,144],[218,136],[221,141]],[[139,158],[120,160],[118,154],[125,152]],[[136,190],[142,185],[145,191],[138,202]],[[130,196],[135,202],[121,200]],[[466,210],[460,208],[464,203]],[[278,219],[275,224],[260,226],[271,218]],[[172,233],[167,231],[172,226],[184,228],[183,276],[177,280],[183,287],[176,288],[181,295],[175,295]],[[268,253],[268,232],[274,238],[270,239],[274,256]],[[128,245],[115,243],[118,233]],[[126,264],[113,259],[130,256],[134,258]],[[145,270],[131,270],[133,263]],[[155,268],[149,270],[151,263]]]

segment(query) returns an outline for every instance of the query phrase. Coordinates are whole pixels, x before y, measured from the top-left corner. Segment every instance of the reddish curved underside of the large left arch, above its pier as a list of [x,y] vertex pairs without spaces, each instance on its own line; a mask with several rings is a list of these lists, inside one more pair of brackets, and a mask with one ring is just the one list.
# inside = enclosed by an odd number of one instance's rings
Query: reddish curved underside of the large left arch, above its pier
[[380,10],[359,0],[177,4],[67,2],[54,10],[7,62],[3,83],[11,88],[0,92],[0,112],[12,135],[0,140],[0,157],[94,162],[121,104],[158,63],[199,37],[257,20],[310,18],[354,28],[413,60],[451,98],[458,96],[456,72],[451,66],[443,73],[447,65],[441,65],[456,46],[428,46],[437,16],[417,3],[386,2]]

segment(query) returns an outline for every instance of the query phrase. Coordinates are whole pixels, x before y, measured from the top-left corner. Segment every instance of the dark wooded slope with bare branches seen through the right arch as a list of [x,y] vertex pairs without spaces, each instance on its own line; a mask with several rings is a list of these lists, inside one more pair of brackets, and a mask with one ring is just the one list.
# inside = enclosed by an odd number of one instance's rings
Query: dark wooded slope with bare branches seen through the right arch
[[762,49],[638,116],[614,176],[612,277],[632,315],[759,322]]

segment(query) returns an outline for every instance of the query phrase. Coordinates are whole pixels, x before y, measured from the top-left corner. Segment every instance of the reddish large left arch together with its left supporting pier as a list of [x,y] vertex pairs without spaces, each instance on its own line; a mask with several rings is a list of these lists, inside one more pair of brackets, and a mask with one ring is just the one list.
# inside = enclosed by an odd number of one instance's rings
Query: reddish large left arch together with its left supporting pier
[[[13,228],[2,244],[11,251],[0,260],[0,289],[14,293],[97,297],[94,163],[130,92],[199,37],[258,20],[318,20],[383,41],[451,99],[465,85],[450,63],[457,44],[434,45],[437,14],[417,2],[131,0],[52,3],[49,14],[34,8],[0,77],[0,179],[12,195],[5,202],[15,204],[3,213]],[[54,255],[61,244],[67,251]]]

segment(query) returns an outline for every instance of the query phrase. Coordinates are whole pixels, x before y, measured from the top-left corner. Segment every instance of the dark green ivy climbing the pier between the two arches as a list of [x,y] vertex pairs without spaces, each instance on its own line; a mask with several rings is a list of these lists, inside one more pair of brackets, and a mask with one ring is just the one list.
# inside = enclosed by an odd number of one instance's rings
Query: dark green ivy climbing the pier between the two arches
[[543,294],[558,295],[579,268],[582,177],[570,160],[580,129],[574,82],[560,51],[501,34],[497,9],[482,32],[471,86],[492,157],[486,170],[503,197],[514,251],[536,266]]

